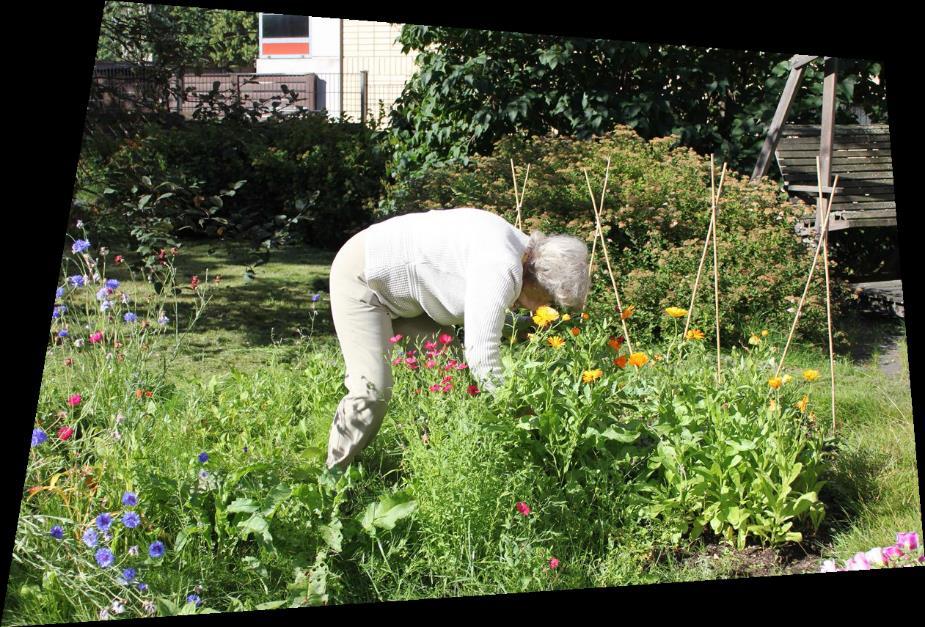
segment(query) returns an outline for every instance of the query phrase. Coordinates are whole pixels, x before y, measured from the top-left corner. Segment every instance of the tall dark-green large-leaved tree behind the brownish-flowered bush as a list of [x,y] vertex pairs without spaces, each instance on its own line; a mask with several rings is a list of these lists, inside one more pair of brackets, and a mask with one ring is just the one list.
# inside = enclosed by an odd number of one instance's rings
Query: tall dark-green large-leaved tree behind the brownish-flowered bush
[[[394,177],[489,154],[504,135],[549,132],[586,138],[617,124],[644,138],[675,134],[701,153],[750,169],[783,91],[790,55],[404,26],[403,51],[418,70],[392,113]],[[789,121],[818,122],[821,64],[810,66]],[[848,105],[886,117],[880,66],[847,61],[838,121]]]

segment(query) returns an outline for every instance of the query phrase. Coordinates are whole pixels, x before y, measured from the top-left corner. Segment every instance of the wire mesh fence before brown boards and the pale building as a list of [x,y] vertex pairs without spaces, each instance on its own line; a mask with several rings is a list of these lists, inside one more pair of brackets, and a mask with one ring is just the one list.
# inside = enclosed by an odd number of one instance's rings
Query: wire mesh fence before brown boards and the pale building
[[282,100],[284,112],[299,108],[326,110],[333,116],[344,114],[359,121],[377,120],[381,110],[385,116],[383,125],[405,86],[403,76],[370,72],[293,75],[204,71],[178,79],[156,75],[150,67],[128,64],[98,64],[93,81],[91,104],[169,110],[190,118],[203,98],[216,88],[222,98],[244,103],[267,102],[283,96],[285,91],[295,99],[291,103],[288,98]]

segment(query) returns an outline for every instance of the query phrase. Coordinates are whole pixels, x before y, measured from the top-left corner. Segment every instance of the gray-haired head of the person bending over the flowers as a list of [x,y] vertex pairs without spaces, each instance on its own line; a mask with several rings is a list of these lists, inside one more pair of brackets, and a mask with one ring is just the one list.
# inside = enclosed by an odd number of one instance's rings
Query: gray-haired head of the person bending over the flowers
[[591,284],[588,245],[571,235],[530,234],[524,276],[546,290],[561,307],[584,308]]

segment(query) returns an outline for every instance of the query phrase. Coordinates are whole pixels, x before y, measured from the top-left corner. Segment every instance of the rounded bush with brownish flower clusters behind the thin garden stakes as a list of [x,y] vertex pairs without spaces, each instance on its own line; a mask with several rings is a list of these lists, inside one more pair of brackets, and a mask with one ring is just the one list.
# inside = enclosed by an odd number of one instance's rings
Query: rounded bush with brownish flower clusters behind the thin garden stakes
[[[675,138],[645,141],[628,128],[591,140],[506,138],[490,157],[468,167],[434,169],[390,189],[390,204],[402,211],[475,206],[515,219],[510,159],[520,183],[530,164],[524,197],[524,229],[565,232],[584,238],[589,250],[594,214],[582,169],[600,198],[611,159],[602,227],[623,304],[635,305],[631,339],[658,337],[657,312],[690,302],[710,220],[710,164]],[[719,164],[718,164],[719,166]],[[720,167],[716,168],[719,179]],[[725,343],[747,339],[756,328],[789,328],[806,282],[810,249],[794,234],[805,208],[792,205],[775,185],[751,185],[727,172],[719,204],[720,323]],[[601,251],[597,251],[592,302],[615,304]],[[704,266],[692,324],[713,327],[712,254]],[[825,333],[825,288],[821,265],[814,275],[798,331],[813,339]],[[597,298],[599,296],[599,298]],[[845,288],[833,286],[837,305]],[[612,311],[612,309],[611,309]],[[836,314],[837,314],[836,310]],[[653,313],[654,312],[654,313]]]

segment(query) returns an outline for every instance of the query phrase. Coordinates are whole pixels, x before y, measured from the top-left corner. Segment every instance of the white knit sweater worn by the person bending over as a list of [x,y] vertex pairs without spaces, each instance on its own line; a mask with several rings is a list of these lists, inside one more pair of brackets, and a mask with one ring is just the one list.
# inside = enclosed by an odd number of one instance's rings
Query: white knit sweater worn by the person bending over
[[393,318],[464,325],[466,361],[491,390],[502,380],[505,309],[520,296],[528,242],[481,209],[402,215],[367,230],[366,281]]

